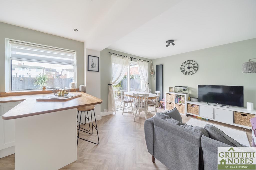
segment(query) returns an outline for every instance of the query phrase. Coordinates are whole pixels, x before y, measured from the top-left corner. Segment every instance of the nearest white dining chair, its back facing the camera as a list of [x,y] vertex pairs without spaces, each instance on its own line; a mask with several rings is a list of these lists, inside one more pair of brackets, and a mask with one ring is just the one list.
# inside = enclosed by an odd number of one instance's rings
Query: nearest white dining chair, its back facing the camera
[[[136,108],[135,115],[133,121],[135,121],[136,114],[138,109],[141,109],[145,113],[145,119],[147,119],[147,109],[148,109],[148,96],[149,94],[132,94],[134,99],[134,106]],[[140,111],[139,111],[139,118],[140,118]]]

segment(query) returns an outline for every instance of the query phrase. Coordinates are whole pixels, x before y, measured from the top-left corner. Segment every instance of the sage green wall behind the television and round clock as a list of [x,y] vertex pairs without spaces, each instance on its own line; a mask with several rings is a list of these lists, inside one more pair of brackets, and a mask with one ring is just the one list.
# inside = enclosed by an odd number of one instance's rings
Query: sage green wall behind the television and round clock
[[[152,62],[154,70],[157,64],[163,64],[164,93],[169,87],[188,86],[190,96],[197,97],[198,84],[244,86],[244,107],[247,102],[253,102],[256,108],[256,73],[242,73],[242,64],[250,58],[256,58],[256,38],[153,59]],[[195,74],[184,75],[180,71],[186,60],[198,63]],[[151,85],[155,90],[155,77]]]

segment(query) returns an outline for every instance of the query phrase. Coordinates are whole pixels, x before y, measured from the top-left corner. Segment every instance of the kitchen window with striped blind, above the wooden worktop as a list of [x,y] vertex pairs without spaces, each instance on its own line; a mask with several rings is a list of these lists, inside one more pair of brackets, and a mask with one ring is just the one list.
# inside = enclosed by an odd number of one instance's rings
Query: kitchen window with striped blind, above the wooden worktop
[[[69,87],[70,82],[76,82],[75,51],[10,40],[9,48],[11,90],[40,89],[40,77],[46,79],[48,88]],[[63,70],[68,70],[69,76],[62,76]]]

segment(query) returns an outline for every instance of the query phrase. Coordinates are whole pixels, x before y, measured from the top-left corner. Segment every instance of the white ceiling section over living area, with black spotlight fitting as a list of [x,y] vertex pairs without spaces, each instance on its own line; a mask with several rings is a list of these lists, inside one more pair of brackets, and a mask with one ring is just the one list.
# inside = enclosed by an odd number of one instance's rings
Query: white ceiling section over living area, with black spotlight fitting
[[[108,48],[150,59],[256,37],[255,0],[184,0]],[[175,46],[165,47],[167,40]]]

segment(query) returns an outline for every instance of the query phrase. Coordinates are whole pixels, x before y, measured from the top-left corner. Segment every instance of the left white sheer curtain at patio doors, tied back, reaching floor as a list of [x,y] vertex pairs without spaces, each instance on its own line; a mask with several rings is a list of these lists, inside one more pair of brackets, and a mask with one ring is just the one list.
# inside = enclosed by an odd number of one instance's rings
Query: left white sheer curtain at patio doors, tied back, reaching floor
[[110,81],[109,86],[109,96],[108,96],[108,110],[115,110],[115,97],[114,97],[114,89],[113,85],[118,84],[124,77],[125,72],[129,66],[130,58],[127,57],[118,57],[111,54],[112,61],[112,80]]

